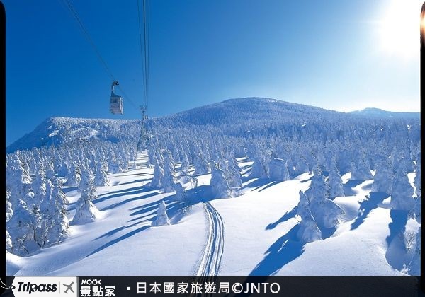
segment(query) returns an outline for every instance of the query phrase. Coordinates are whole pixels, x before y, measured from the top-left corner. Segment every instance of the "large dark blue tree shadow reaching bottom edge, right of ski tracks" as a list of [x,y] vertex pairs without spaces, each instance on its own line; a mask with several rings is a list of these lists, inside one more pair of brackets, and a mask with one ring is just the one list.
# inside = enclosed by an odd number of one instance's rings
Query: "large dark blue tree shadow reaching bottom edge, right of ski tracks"
[[295,225],[288,233],[276,240],[266,251],[264,259],[256,265],[249,276],[268,276],[276,274],[283,266],[300,257],[304,244],[297,240],[300,225]]

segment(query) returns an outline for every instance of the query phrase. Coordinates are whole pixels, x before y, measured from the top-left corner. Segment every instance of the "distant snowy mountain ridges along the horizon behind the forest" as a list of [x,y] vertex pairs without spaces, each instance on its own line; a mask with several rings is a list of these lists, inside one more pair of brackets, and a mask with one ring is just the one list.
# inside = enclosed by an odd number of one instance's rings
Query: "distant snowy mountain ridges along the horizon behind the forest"
[[[368,117],[406,117],[419,120],[419,113],[386,112],[366,109],[352,112],[352,115]],[[263,129],[278,129],[288,123],[302,125],[313,122],[342,122],[352,117],[350,113],[324,110],[297,103],[288,103],[270,98],[229,99],[221,103],[196,107],[175,115],[154,118],[152,127],[184,127],[185,125],[210,125],[224,129],[228,134],[262,133]],[[232,125],[232,127],[229,127]],[[116,141],[137,141],[140,120],[82,119],[70,117],[51,117],[21,139],[6,148],[6,153],[33,147],[57,145],[72,141],[89,139]]]

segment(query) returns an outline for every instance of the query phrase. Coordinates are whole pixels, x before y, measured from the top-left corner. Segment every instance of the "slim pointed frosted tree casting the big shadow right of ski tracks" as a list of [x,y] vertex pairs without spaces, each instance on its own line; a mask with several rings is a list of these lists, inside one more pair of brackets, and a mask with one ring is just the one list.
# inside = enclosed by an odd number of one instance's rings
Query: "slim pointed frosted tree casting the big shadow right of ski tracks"
[[322,231],[317,227],[317,222],[312,216],[310,201],[304,192],[300,191],[300,202],[298,202],[297,214],[300,216],[300,229],[297,236],[303,243],[311,243],[322,239]]

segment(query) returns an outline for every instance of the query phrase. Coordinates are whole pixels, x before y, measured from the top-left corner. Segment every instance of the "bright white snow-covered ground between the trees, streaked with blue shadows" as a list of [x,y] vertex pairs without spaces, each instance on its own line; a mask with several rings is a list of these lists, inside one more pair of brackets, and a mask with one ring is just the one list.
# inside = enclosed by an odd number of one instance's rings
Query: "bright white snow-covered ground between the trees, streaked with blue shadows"
[[[239,165],[244,173],[251,163],[239,159]],[[62,243],[26,257],[8,253],[7,274],[403,275],[413,255],[397,236],[419,223],[400,219],[390,198],[366,199],[372,180],[353,184],[350,173],[342,177],[347,196],[334,199],[345,212],[342,223],[306,244],[296,236],[296,206],[309,173],[285,182],[244,174],[244,194],[227,199],[210,199],[210,175],[200,175],[188,202],[148,187],[152,174],[152,168],[138,168],[109,175],[111,186],[98,187],[94,201],[100,219],[72,225]],[[72,221],[80,194],[75,187],[64,190]],[[162,201],[171,224],[151,226]]]

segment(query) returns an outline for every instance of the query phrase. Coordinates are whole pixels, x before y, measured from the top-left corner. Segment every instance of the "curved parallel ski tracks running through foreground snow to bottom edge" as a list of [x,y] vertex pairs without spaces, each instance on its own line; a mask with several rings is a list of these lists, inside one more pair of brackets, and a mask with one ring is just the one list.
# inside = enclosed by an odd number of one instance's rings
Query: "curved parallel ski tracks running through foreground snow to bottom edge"
[[209,202],[205,202],[203,206],[208,218],[209,233],[196,275],[217,276],[225,247],[225,224],[217,209]]

